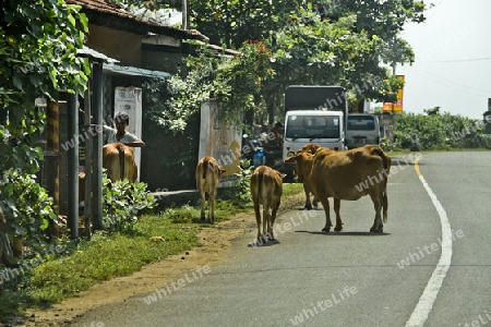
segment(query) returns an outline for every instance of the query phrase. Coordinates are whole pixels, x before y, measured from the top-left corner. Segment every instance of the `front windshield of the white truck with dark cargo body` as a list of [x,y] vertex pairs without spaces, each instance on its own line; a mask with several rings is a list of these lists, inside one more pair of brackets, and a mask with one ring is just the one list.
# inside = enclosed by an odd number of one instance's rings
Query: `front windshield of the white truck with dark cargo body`
[[286,123],[287,138],[339,138],[339,117],[289,116]]

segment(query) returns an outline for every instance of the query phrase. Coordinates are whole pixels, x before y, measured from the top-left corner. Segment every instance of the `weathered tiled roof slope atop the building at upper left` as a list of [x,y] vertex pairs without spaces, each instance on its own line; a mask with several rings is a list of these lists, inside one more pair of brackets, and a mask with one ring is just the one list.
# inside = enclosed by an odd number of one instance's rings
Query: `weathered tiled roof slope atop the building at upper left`
[[139,34],[168,35],[180,39],[201,39],[206,37],[197,31],[184,31],[156,22],[142,20],[108,0],[65,0],[69,4],[79,4],[82,12],[88,17],[88,22],[101,26],[110,26],[118,29]]

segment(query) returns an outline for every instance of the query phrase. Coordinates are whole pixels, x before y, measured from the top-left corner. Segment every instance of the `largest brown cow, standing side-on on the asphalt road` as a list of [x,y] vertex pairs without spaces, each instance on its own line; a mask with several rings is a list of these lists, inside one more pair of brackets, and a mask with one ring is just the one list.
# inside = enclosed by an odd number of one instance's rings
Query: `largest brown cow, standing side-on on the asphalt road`
[[334,197],[336,213],[335,231],[343,230],[339,216],[342,199],[356,201],[370,195],[375,208],[375,219],[371,232],[383,232],[383,221],[387,221],[387,177],[391,170],[391,158],[376,145],[366,145],[350,150],[332,150],[319,148],[312,159],[309,183],[316,198],[325,210],[325,227],[330,231],[328,197]]

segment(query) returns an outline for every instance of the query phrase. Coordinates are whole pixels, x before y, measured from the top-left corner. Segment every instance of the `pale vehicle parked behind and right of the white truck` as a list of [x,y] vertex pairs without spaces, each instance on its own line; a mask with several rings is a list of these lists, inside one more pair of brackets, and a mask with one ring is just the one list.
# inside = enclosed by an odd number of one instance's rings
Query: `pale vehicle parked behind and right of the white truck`
[[346,146],[355,148],[366,144],[379,145],[379,118],[370,113],[349,113],[346,130]]

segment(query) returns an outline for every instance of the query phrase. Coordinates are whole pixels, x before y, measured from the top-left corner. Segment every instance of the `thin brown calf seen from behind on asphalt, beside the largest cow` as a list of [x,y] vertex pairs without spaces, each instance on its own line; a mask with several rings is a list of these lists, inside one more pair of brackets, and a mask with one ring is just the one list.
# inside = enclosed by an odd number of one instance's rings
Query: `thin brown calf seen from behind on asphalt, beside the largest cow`
[[[266,242],[266,237],[274,240],[273,225],[276,219],[276,211],[279,207],[283,193],[283,178],[279,171],[267,166],[258,167],[251,177],[251,195],[254,202],[255,221],[258,222],[258,242],[262,239]],[[261,210],[263,205],[263,231],[261,233]],[[271,209],[271,214],[270,214]]]

